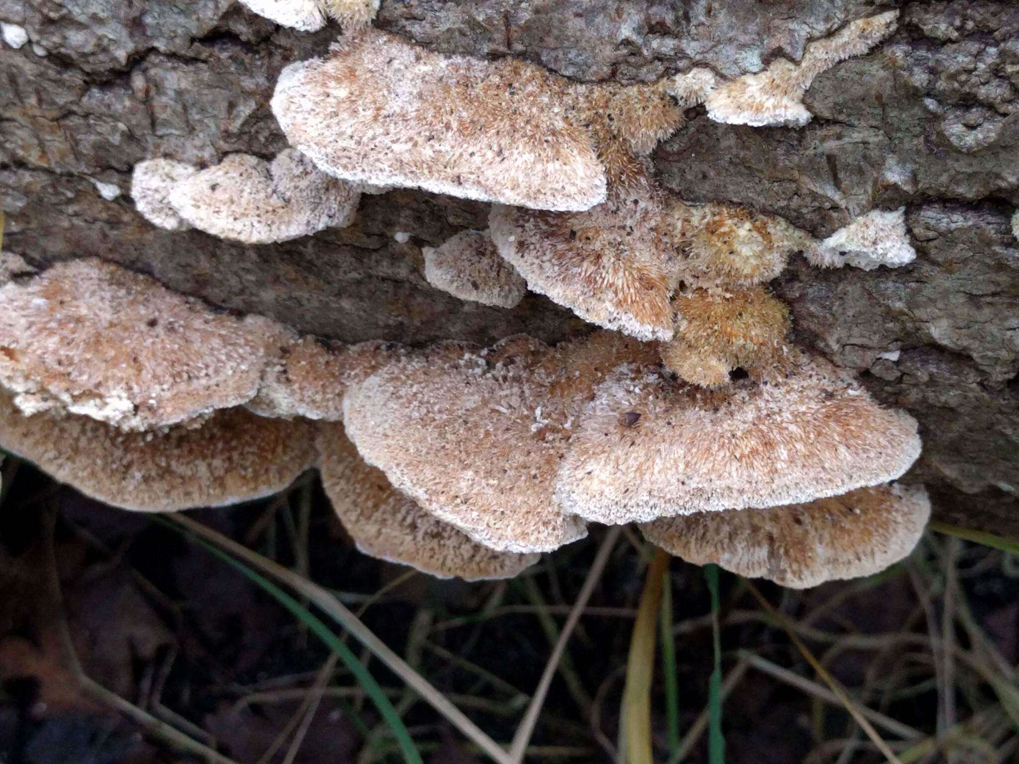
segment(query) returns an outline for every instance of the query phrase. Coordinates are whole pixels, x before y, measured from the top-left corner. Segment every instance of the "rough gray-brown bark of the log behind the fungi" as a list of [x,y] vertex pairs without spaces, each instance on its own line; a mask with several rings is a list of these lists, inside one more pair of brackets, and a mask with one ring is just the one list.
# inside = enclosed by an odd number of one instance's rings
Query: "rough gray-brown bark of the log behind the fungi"
[[[1019,531],[1019,6],[868,0],[384,0],[378,25],[445,51],[516,55],[580,79],[651,80],[692,65],[726,75],[798,59],[845,21],[902,8],[896,35],[814,83],[802,129],[689,122],[655,153],[688,201],[729,200],[818,236],[874,206],[908,206],[918,257],[898,270],[819,271],[775,286],[798,340],[861,373],[921,423],[908,476],[936,510]],[[557,340],[585,325],[529,295],[503,311],[424,280],[420,247],[484,227],[487,206],[414,192],[365,197],[344,230],[272,247],[171,233],[126,196],[142,159],[209,164],[285,147],[268,109],[286,63],[335,26],[281,30],[230,0],[0,0],[28,31],[0,46],[6,248],[36,265],[99,256],[225,308],[342,340]],[[104,199],[96,181],[119,188]],[[109,189],[107,188],[107,196]],[[396,231],[412,234],[397,243]],[[898,361],[880,358],[900,350]]]

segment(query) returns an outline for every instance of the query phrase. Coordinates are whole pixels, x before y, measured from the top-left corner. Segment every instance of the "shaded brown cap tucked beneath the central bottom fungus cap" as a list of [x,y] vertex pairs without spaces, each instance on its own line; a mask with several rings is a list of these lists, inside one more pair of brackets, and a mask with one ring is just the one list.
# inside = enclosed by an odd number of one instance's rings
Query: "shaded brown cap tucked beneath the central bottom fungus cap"
[[381,470],[365,463],[342,425],[323,425],[318,448],[326,495],[365,554],[465,581],[512,578],[541,556],[496,552],[429,514],[393,488]]

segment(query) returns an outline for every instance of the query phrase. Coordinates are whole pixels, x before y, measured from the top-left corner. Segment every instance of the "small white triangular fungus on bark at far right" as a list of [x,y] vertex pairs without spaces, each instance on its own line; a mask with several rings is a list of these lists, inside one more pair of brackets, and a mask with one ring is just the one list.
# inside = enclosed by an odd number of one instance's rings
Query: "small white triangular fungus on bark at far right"
[[822,268],[851,265],[865,271],[881,265],[898,268],[916,259],[906,228],[905,207],[871,210],[809,248],[806,254],[811,263]]

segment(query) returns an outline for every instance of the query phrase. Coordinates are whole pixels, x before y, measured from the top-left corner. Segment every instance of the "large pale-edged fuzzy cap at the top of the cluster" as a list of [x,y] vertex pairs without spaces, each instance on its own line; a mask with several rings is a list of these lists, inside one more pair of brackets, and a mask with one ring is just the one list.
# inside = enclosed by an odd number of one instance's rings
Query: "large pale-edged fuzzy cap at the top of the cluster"
[[283,70],[272,110],[337,177],[546,210],[605,199],[605,172],[565,118],[569,80],[540,66],[444,56],[365,30]]

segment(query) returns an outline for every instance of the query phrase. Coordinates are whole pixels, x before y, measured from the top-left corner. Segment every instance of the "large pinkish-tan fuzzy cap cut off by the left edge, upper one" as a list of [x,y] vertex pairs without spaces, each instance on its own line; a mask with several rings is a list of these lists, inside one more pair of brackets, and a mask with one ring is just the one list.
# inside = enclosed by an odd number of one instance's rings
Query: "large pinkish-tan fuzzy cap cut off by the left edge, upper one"
[[26,413],[62,408],[148,430],[238,405],[283,328],[213,312],[100,260],[0,287],[0,385]]

